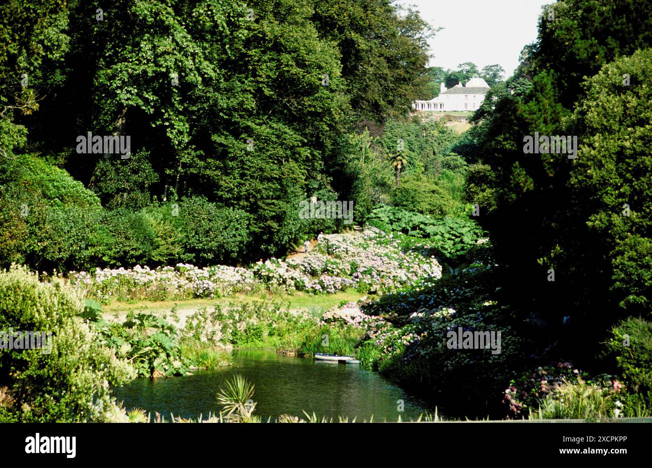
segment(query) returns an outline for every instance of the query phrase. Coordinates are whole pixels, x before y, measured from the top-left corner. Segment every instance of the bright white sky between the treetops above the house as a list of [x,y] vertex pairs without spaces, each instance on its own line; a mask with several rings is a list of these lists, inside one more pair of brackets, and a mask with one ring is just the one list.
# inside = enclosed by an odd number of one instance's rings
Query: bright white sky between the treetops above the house
[[433,27],[443,27],[429,42],[431,66],[456,70],[460,63],[497,63],[505,78],[518,66],[522,48],[537,38],[542,5],[555,0],[398,0],[413,5]]

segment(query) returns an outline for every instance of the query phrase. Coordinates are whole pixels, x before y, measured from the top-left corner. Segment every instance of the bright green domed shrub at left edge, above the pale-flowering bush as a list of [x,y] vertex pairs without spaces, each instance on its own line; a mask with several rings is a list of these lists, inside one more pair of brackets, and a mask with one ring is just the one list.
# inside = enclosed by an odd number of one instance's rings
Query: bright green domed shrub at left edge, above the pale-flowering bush
[[82,269],[96,263],[99,199],[31,155],[0,161],[0,266]]

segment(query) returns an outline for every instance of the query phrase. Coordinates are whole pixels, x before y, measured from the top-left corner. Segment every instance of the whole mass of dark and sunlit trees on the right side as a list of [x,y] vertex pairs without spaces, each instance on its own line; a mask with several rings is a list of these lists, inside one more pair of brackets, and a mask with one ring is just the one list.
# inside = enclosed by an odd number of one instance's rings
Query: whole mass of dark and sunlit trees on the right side
[[[649,190],[640,154],[649,125],[640,84],[649,54],[636,51],[652,46],[651,24],[649,3],[544,7],[537,42],[524,48],[514,75],[488,93],[475,114],[475,144],[464,149],[481,162],[471,167],[467,196],[484,207],[479,220],[505,265],[505,294],[552,323],[575,317],[585,327],[582,342],[613,323],[619,305],[649,311],[642,203]],[[576,158],[524,153],[524,138],[535,132],[576,136]]]

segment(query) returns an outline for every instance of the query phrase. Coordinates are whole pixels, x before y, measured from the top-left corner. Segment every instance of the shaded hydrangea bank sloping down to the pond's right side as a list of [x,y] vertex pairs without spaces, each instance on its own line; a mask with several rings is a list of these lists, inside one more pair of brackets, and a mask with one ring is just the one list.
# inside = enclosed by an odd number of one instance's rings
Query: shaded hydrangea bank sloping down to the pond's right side
[[[429,398],[447,402],[447,414],[485,417],[497,411],[499,402],[486,395],[500,395],[511,369],[526,356],[511,311],[501,304],[493,265],[483,254],[457,274],[362,304],[365,314],[379,319],[359,347],[363,363],[406,387],[427,388]],[[460,327],[500,332],[500,352],[449,348],[449,331]]]

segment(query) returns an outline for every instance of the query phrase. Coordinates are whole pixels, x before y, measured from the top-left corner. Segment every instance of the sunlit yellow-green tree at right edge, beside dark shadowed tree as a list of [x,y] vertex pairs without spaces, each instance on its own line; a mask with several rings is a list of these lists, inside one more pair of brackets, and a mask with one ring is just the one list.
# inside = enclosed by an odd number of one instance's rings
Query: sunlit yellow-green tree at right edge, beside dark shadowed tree
[[[573,218],[600,239],[591,250],[604,261],[600,273],[611,279],[615,300],[630,314],[647,317],[652,314],[650,80],[648,48],[604,66],[586,83],[586,96],[574,112],[582,145],[569,181]],[[572,243],[564,246],[577,261]]]

